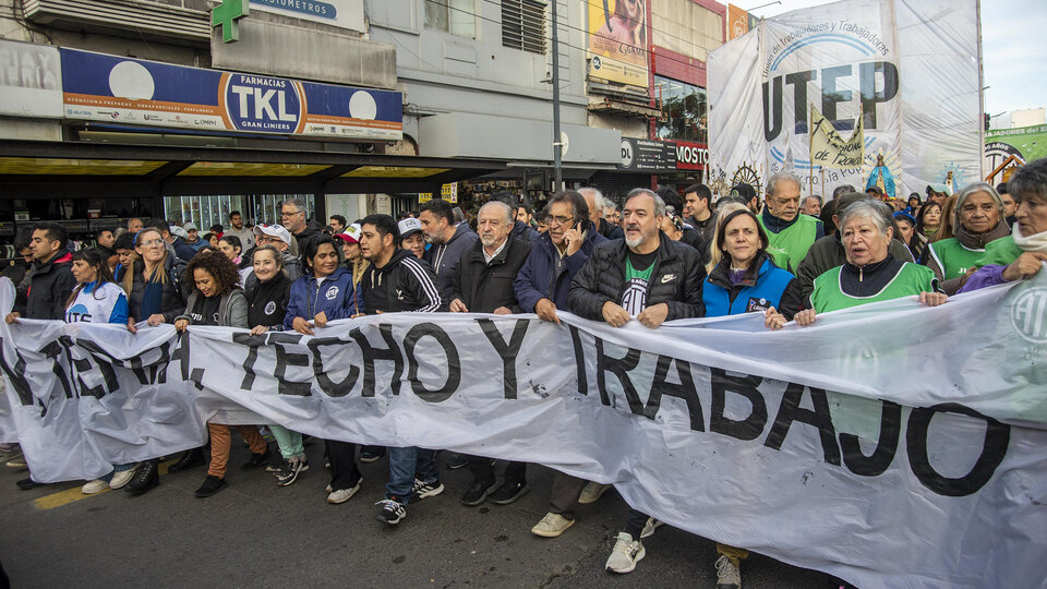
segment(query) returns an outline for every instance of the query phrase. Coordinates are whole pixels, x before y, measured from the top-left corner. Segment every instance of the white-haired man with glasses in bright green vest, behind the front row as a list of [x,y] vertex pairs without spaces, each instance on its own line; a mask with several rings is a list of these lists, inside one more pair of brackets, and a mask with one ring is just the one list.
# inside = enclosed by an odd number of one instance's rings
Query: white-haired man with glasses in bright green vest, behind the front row
[[826,236],[821,220],[799,214],[799,178],[789,171],[772,176],[767,182],[763,212],[758,217],[770,240],[768,253],[775,263],[785,261],[787,267],[783,269],[793,274],[796,274],[807,250]]

